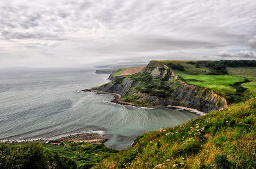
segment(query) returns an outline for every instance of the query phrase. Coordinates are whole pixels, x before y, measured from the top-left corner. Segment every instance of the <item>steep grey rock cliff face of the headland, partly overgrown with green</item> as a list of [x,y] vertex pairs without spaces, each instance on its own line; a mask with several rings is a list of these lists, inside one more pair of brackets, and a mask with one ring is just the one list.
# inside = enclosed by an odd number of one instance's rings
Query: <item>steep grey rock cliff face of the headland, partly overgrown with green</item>
[[227,107],[222,96],[208,88],[183,82],[163,63],[151,61],[139,73],[117,80],[97,90],[120,94],[122,101],[141,105],[185,106],[206,113]]

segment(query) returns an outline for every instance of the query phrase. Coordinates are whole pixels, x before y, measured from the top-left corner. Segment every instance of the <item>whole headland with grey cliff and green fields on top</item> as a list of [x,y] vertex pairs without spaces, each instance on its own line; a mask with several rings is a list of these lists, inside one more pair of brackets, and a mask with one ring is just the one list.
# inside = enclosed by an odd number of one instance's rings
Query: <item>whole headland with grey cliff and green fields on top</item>
[[[238,63],[232,64],[240,70],[248,68],[239,67]],[[250,66],[252,70],[255,68]],[[155,60],[140,72],[116,79],[96,90],[120,94],[122,102],[185,106],[207,113],[255,94],[255,79],[242,77],[242,74],[238,77],[239,72],[236,76],[228,75],[227,69],[222,62],[216,61]]]

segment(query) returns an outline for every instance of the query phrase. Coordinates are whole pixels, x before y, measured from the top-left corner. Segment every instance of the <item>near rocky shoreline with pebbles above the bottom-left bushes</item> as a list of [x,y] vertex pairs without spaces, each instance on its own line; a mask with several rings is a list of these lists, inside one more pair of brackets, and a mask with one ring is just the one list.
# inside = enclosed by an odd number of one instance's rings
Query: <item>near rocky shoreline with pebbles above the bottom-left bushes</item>
[[22,140],[2,140],[0,143],[5,144],[12,144],[12,143],[44,143],[46,141],[85,141],[85,142],[92,142],[95,143],[105,143],[108,139],[106,139],[105,135],[98,134],[96,132],[90,132],[90,133],[80,133],[80,134],[74,134],[74,135],[67,135],[62,136],[59,138],[49,138],[49,139],[22,139]]

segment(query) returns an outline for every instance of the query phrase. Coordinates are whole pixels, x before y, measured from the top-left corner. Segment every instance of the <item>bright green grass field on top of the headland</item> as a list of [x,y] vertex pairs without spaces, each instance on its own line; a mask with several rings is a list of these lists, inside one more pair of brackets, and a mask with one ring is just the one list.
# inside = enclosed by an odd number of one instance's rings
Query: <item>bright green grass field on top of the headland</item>
[[230,84],[235,82],[242,82],[245,80],[244,77],[236,77],[233,75],[187,75],[181,74],[182,78],[186,80],[196,79],[197,81],[189,81],[190,84],[195,84],[198,86],[203,86],[210,88],[215,92],[224,92],[228,94],[233,94],[236,89]]

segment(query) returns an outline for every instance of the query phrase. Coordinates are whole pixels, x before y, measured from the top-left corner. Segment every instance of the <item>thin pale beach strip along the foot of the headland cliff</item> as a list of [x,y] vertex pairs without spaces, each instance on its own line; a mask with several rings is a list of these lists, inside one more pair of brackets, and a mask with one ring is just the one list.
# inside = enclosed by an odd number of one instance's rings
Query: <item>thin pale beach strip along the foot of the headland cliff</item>
[[100,94],[110,94],[110,95],[114,95],[114,99],[111,100],[113,103],[117,103],[117,104],[122,104],[122,105],[130,105],[130,106],[139,106],[139,107],[146,107],[146,108],[157,108],[157,107],[171,107],[171,108],[178,108],[178,109],[185,109],[185,110],[189,110],[191,112],[195,112],[195,113],[199,113],[199,114],[203,114],[206,115],[207,113],[204,112],[200,112],[197,109],[193,109],[193,108],[186,108],[183,106],[173,106],[173,105],[167,105],[167,106],[161,106],[161,105],[157,105],[157,106],[148,106],[148,105],[138,105],[138,104],[133,104],[133,103],[129,103],[129,102],[125,102],[125,101],[121,101],[121,95],[120,94],[116,94],[116,93],[109,93],[109,92],[103,92],[103,91],[99,91],[99,90],[95,90],[93,88],[91,89],[85,89],[82,90],[84,92],[96,92],[98,95]]

